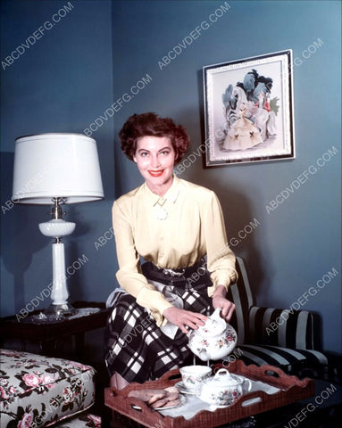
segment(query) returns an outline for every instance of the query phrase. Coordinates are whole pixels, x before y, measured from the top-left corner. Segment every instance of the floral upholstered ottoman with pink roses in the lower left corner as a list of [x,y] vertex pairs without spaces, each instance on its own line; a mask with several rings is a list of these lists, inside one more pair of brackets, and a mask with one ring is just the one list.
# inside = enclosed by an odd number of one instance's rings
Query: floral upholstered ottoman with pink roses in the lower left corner
[[99,428],[95,370],[63,358],[0,350],[0,428]]

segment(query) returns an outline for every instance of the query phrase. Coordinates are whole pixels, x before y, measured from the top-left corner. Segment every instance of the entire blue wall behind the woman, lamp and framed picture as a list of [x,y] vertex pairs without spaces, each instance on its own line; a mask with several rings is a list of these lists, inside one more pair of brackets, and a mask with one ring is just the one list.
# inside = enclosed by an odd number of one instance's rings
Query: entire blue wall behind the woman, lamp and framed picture
[[[63,2],[15,4],[4,2],[2,59]],[[117,133],[125,119],[143,111],[171,116],[188,128],[190,152],[196,152],[205,139],[202,67],[292,49],[296,160],[203,169],[198,159],[181,177],[219,195],[229,239],[254,223],[232,249],[246,259],[258,305],[319,313],[324,348],[340,352],[340,3],[72,4],[68,16],[2,73],[5,158],[11,160],[16,136],[52,128],[87,129],[99,146],[106,199],[68,209],[78,225],[68,239],[70,262],[88,257],[71,278],[72,297],[104,300],[116,284],[113,239],[94,243],[111,226],[113,198],[141,183],[120,151]],[[217,20],[161,70],[158,62],[215,13]],[[113,119],[96,122],[111,106]],[[266,206],[322,158],[320,169],[268,213]],[[2,205],[11,197],[10,169],[2,177]],[[3,315],[20,310],[50,281],[50,247],[38,233],[43,216],[39,207],[19,206],[2,214]]]

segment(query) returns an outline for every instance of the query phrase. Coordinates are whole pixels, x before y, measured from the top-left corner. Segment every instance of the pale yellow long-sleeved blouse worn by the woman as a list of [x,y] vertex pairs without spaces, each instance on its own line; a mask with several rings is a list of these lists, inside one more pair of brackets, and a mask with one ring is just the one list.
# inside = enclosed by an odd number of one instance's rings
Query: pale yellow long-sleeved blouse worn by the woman
[[[166,217],[164,219],[159,218]],[[159,268],[187,268],[207,255],[213,286],[236,282],[235,256],[229,249],[220,202],[213,191],[173,177],[163,197],[146,184],[113,203],[113,229],[121,287],[151,309],[157,325],[172,305],[141,274],[140,256]]]

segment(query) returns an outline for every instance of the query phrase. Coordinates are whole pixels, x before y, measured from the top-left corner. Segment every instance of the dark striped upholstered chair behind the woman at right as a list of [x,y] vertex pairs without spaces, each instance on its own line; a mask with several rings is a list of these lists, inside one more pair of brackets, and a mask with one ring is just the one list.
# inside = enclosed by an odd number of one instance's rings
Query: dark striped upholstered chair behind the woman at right
[[238,345],[226,359],[246,365],[279,366],[288,374],[308,375],[341,382],[341,362],[319,350],[318,325],[312,312],[254,306],[243,259],[237,258],[238,283],[230,287],[229,300],[236,311],[231,319]]

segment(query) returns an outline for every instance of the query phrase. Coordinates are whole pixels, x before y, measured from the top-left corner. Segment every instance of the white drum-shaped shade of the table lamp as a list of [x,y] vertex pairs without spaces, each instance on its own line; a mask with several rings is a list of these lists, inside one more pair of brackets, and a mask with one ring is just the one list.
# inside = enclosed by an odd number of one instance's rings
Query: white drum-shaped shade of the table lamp
[[104,198],[96,141],[81,134],[49,133],[15,140],[13,201],[51,204]]

